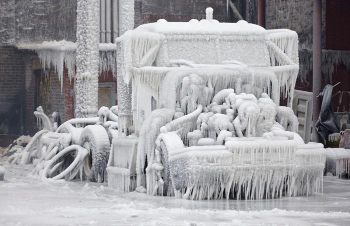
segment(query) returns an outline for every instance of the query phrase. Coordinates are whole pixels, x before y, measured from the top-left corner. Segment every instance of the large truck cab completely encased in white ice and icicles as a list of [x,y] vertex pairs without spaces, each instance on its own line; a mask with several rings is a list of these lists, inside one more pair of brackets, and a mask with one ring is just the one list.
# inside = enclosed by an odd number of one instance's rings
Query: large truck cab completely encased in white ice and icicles
[[124,137],[112,141],[108,186],[189,199],[318,192],[323,146],[304,144],[292,110],[279,106],[293,97],[296,32],[206,13],[117,38],[117,76],[132,91],[118,100]]

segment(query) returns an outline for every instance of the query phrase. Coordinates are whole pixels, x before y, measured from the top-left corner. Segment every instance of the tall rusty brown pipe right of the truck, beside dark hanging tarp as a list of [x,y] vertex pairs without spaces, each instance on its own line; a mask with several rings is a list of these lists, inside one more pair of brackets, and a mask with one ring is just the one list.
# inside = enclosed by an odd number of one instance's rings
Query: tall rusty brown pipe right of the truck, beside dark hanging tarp
[[312,30],[312,141],[319,142],[320,138],[315,129],[320,110],[320,98],[316,96],[321,92],[321,16],[322,16],[321,0],[313,0],[313,30]]

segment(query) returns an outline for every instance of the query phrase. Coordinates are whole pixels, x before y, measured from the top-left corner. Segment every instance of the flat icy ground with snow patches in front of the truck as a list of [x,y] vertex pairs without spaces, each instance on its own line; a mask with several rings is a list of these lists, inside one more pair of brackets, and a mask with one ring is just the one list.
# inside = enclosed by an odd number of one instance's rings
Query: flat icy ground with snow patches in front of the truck
[[[108,189],[106,184],[28,178],[9,165],[0,181],[0,225],[350,225],[350,181],[324,177],[323,195],[260,201],[188,201]],[[103,186],[103,187],[102,187]]]

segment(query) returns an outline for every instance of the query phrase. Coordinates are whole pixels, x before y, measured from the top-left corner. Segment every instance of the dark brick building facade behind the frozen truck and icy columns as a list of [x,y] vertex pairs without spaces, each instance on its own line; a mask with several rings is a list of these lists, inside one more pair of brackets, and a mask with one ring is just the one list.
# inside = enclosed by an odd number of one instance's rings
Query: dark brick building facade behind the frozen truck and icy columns
[[[134,0],[135,26],[155,22],[188,21],[205,18],[205,8],[214,9],[220,22],[243,18],[257,22],[258,0]],[[100,0],[100,42],[113,42],[118,36],[118,0]],[[63,82],[54,68],[43,67],[31,44],[43,41],[76,41],[76,0],[1,0],[0,1],[0,134],[33,134],[32,112],[41,105],[47,114],[59,114],[60,122],[74,117],[74,80],[64,67]],[[235,8],[235,9],[234,9]],[[350,50],[347,0],[322,0],[322,84],[340,85],[333,106],[350,111]],[[300,73],[296,89],[312,87],[312,0],[266,0],[266,28],[288,28],[299,36]],[[116,81],[112,71],[100,70],[98,106],[116,102]],[[341,96],[340,96],[341,95]]]

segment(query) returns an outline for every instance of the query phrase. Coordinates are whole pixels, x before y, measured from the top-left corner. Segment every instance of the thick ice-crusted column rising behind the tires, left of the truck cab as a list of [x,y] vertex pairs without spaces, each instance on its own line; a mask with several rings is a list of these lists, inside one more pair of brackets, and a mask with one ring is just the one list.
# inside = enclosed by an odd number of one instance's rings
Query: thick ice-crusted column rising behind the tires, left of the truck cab
[[75,117],[97,116],[99,0],[78,0]]

